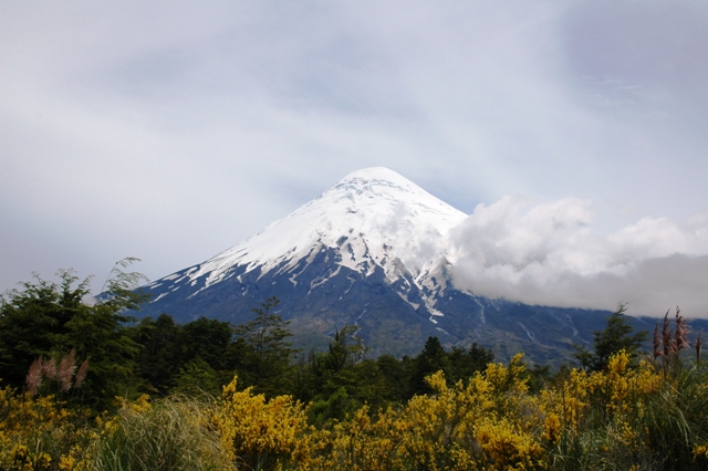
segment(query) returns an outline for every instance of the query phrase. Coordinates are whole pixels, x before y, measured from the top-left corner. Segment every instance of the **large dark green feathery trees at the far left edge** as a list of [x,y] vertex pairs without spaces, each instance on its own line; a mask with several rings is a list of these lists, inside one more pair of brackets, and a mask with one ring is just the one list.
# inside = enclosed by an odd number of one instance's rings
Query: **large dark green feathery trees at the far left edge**
[[[136,259],[118,262],[127,266]],[[61,282],[34,275],[2,296],[0,305],[0,367],[4,381],[22,388],[30,365],[40,356],[59,360],[70,352],[90,366],[77,396],[70,399],[94,410],[112,405],[114,396],[126,393],[134,376],[138,345],[127,336],[122,313],[136,308],[145,295],[128,290],[136,274],[114,269],[106,281],[108,290],[98,302],[90,304],[90,279],[77,283],[72,271],[60,271]],[[76,284],[77,283],[77,284]],[[133,286],[134,287],[134,286]]]

